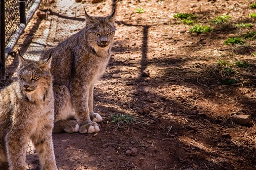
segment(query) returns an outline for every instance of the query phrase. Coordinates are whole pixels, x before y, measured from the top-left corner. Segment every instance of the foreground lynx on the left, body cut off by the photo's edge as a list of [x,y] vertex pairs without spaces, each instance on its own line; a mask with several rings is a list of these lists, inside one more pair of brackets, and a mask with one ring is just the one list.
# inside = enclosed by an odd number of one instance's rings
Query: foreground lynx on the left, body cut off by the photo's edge
[[29,139],[37,150],[42,170],[57,170],[52,143],[51,56],[35,62],[20,55],[19,62],[19,80],[0,91],[0,170],[26,170]]

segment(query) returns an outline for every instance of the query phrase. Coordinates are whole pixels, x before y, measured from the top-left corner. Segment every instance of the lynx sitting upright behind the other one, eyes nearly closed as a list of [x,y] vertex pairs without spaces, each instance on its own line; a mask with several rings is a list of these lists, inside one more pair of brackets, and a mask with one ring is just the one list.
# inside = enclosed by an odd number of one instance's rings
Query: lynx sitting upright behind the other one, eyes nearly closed
[[93,17],[85,11],[85,28],[44,52],[43,58],[53,55],[54,133],[99,131],[96,122],[102,117],[93,110],[93,89],[110,59],[115,13],[114,9],[107,17]]

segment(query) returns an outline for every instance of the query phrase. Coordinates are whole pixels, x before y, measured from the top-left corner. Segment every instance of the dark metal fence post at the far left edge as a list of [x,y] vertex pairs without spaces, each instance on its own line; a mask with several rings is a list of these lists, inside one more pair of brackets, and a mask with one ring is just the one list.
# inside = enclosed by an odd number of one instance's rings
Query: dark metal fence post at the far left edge
[[1,60],[0,60],[0,76],[1,76],[1,81],[6,80],[5,76],[5,10],[4,10],[4,0],[1,0],[1,10],[0,10],[0,39],[1,39]]

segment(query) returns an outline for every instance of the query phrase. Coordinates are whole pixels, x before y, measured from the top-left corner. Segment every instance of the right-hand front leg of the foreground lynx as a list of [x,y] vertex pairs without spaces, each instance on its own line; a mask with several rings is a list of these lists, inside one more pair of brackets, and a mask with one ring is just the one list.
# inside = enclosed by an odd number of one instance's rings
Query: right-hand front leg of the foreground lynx
[[58,170],[55,163],[51,128],[51,125],[45,125],[40,132],[31,137],[39,155],[41,170]]

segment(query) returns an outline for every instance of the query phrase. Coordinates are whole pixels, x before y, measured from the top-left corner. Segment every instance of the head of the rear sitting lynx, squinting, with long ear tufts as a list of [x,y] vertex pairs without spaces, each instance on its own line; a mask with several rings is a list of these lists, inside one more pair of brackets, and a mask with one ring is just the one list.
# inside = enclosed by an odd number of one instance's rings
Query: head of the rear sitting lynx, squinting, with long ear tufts
[[[85,11],[85,9],[84,9]],[[85,11],[86,18],[86,39],[89,45],[97,52],[98,50],[106,50],[110,48],[115,35],[115,19],[116,9],[107,17],[89,16]]]

